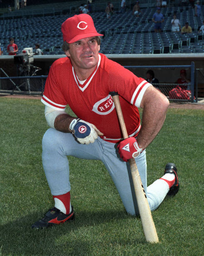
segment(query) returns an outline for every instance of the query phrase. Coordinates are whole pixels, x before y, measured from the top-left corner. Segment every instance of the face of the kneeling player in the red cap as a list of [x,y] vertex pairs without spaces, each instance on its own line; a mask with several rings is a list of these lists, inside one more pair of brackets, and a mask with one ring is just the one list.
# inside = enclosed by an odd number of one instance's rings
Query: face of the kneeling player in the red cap
[[98,63],[99,50],[100,46],[94,36],[71,43],[70,49],[65,51],[65,54],[70,57],[74,68],[92,69]]

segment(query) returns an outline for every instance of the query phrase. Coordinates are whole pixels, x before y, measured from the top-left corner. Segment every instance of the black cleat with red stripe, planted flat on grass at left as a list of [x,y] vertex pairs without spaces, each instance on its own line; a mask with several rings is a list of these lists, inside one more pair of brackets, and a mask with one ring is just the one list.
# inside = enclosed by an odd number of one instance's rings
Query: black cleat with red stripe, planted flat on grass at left
[[73,207],[70,214],[65,214],[54,207],[45,213],[45,216],[41,220],[38,220],[32,224],[31,227],[35,229],[50,228],[53,225],[58,225],[60,223],[64,223],[65,221],[72,221],[74,218],[75,213]]

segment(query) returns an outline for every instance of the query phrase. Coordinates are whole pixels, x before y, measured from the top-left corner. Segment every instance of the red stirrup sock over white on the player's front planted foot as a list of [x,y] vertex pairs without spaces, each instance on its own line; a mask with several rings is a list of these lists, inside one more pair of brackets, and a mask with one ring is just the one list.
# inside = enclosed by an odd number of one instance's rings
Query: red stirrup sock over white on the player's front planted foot
[[63,195],[53,195],[53,199],[55,200],[55,207],[61,212],[65,214],[69,214],[71,212],[72,207],[70,203],[70,192]]

